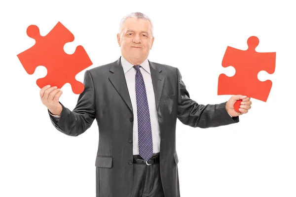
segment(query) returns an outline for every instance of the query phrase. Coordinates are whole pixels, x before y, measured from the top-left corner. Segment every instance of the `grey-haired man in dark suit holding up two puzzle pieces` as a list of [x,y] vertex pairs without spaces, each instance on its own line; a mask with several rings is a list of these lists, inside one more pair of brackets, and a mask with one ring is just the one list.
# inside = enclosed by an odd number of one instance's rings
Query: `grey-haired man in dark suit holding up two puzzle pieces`
[[[153,26],[139,12],[125,16],[117,34],[122,56],[111,64],[85,71],[85,89],[73,111],[56,87],[40,90],[52,124],[78,136],[96,119],[97,197],[180,197],[177,118],[190,127],[218,127],[239,122],[251,108],[250,98],[202,105],[189,98],[178,68],[148,61]],[[240,113],[233,108],[243,99]]]

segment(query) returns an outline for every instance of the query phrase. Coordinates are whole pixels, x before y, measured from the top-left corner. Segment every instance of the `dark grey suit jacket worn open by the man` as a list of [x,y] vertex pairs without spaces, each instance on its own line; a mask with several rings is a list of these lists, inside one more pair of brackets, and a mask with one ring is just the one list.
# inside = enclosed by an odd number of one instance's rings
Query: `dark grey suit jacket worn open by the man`
[[[209,128],[239,122],[225,103],[202,105],[189,98],[178,68],[149,62],[160,127],[160,175],[166,197],[180,197],[177,118],[190,127]],[[96,156],[96,197],[129,197],[133,185],[133,108],[120,58],[85,71],[84,91],[73,111],[63,111],[54,127],[78,136],[96,119],[99,146]]]

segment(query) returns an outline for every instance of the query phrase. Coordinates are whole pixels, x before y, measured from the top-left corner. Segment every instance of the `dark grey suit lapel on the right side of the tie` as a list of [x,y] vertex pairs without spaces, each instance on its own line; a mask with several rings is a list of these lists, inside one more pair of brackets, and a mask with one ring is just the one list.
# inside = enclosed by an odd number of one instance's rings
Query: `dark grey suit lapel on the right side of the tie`
[[156,103],[156,110],[158,109],[163,85],[165,81],[165,76],[161,73],[162,68],[159,66],[156,66],[153,62],[149,62],[150,66],[150,72],[151,72],[151,78],[152,78],[152,84],[155,94],[155,103]]

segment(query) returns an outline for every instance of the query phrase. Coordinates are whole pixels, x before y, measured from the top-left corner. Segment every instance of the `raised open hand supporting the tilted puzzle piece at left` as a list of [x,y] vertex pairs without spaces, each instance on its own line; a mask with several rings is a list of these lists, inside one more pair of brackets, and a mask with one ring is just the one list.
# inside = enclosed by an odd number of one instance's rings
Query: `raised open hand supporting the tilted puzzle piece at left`
[[40,99],[42,103],[48,108],[53,115],[61,115],[62,105],[59,103],[59,99],[63,92],[56,86],[50,87],[50,85],[41,88]]

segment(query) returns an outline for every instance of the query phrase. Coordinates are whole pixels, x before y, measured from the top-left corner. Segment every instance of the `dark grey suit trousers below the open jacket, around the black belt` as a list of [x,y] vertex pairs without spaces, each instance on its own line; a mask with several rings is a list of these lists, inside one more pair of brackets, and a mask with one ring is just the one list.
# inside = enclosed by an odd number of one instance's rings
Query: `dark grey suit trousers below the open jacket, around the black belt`
[[[152,156],[159,155],[154,153]],[[134,158],[141,158],[134,155]],[[159,163],[133,164],[133,189],[131,197],[165,197],[162,189]]]

